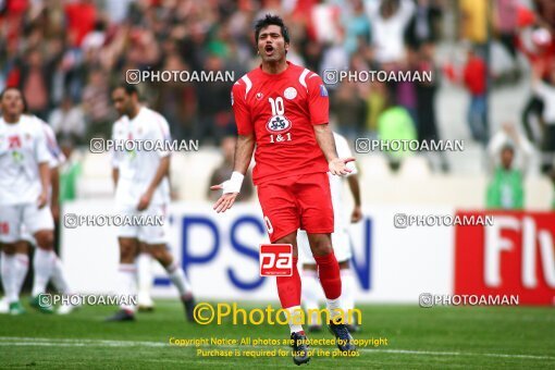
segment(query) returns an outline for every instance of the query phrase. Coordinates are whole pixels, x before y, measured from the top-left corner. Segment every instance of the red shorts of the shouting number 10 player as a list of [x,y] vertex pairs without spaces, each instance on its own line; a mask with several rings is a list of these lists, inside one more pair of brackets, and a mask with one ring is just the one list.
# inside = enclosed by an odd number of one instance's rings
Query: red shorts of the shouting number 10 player
[[297,231],[333,233],[333,206],[328,173],[280,178],[258,185],[258,199],[270,240]]

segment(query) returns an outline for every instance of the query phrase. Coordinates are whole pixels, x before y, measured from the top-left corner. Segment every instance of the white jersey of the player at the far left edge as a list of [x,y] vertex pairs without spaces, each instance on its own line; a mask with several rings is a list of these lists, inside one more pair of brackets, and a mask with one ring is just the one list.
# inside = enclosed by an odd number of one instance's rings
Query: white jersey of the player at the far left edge
[[35,203],[40,195],[39,163],[51,161],[42,123],[21,115],[17,123],[0,118],[0,205]]

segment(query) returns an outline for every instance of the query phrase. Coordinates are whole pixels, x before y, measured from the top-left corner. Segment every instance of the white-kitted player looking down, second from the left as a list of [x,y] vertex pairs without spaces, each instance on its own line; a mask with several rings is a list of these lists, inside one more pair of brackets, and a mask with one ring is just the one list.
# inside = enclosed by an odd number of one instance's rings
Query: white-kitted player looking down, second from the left
[[[115,110],[121,115],[113,125],[114,143],[125,140],[170,140],[170,127],[165,119],[139,103],[138,90],[133,85],[122,85],[112,90]],[[170,151],[163,150],[113,150],[113,181],[115,184],[115,203],[122,215],[165,217],[170,201]],[[180,292],[185,307],[186,318],[194,321],[195,303],[190,283],[177,261],[168,249],[166,232],[163,225],[124,225],[119,231],[120,294],[137,293],[136,258],[140,250],[148,250],[168,272],[172,283]],[[135,319],[136,307],[123,305],[108,318],[109,321],[128,321]]]

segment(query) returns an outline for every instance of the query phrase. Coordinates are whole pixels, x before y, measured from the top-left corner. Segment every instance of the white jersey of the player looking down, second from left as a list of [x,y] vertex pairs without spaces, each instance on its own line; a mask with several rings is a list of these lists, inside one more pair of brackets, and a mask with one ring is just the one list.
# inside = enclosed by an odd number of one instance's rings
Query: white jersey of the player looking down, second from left
[[[141,107],[138,114],[130,120],[124,115],[113,125],[112,139],[116,143],[125,140],[170,140],[170,126],[165,119],[151,109]],[[115,201],[122,206],[136,207],[139,198],[147,192],[155,178],[162,158],[170,156],[169,151],[145,151],[137,146],[132,151],[112,151],[112,164],[120,170]],[[165,176],[156,189],[151,205],[165,205],[170,201],[170,182]]]

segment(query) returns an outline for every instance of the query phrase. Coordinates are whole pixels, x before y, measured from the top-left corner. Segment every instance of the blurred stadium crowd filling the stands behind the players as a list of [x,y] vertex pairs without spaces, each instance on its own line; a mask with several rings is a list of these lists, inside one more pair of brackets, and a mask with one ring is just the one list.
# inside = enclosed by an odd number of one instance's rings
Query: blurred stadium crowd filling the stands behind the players
[[[291,29],[288,59],[326,70],[433,71],[430,82],[330,85],[331,116],[356,137],[440,139],[442,79],[470,96],[470,137],[485,147],[494,132],[488,97],[534,71],[534,94],[515,122],[525,140],[555,151],[555,4],[551,0],[5,0],[0,2],[0,88],[18,86],[28,110],[62,141],[108,137],[115,112],[110,88],[130,70],[233,71],[257,63],[254,21],[282,15]],[[455,22],[445,20],[449,14]],[[509,71],[488,69],[490,44],[513,59]],[[439,65],[444,41],[468,51],[465,65]],[[523,54],[528,65],[519,62]],[[177,138],[220,145],[233,133],[233,82],[146,82],[144,99]],[[514,87],[517,88],[517,87]],[[521,123],[520,123],[521,121]],[[448,123],[447,123],[448,124]],[[443,125],[444,126],[444,125]],[[517,146],[514,146],[518,150]],[[543,162],[548,173],[552,158]],[[445,163],[444,163],[445,164]],[[443,165],[448,170],[448,165]]]

